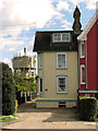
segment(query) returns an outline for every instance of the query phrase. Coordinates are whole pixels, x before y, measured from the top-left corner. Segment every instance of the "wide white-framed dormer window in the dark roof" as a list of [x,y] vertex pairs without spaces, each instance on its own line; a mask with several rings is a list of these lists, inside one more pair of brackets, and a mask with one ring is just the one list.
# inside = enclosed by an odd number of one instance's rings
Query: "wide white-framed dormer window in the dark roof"
[[53,33],[52,34],[52,41],[53,43],[64,43],[71,40],[70,33]]

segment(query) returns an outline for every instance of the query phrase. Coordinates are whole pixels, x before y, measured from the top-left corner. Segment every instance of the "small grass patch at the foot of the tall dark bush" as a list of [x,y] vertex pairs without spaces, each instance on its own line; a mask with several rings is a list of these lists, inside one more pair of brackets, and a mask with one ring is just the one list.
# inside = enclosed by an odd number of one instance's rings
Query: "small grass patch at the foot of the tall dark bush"
[[0,117],[0,122],[9,122],[12,120],[17,120],[19,116],[17,115],[10,115],[10,116],[1,116]]

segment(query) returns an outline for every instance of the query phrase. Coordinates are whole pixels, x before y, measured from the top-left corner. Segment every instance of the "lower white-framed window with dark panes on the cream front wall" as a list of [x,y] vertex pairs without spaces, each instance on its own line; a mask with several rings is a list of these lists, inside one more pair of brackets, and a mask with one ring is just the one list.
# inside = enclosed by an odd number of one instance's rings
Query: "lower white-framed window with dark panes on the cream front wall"
[[68,76],[57,76],[57,93],[68,92]]

